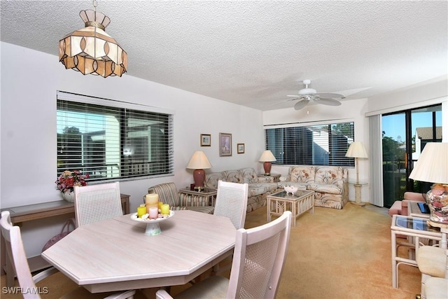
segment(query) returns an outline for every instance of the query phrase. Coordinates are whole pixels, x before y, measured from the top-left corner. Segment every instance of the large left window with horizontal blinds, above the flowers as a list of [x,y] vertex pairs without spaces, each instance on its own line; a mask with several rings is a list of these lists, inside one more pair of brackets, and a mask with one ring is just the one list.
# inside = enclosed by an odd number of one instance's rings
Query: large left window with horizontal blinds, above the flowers
[[80,169],[99,181],[172,174],[173,114],[149,108],[58,92],[57,175]]

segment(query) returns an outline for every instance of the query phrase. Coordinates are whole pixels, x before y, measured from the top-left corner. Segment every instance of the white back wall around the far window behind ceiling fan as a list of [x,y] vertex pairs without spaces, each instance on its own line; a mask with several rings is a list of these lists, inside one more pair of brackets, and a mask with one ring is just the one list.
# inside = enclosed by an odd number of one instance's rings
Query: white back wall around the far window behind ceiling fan
[[[311,122],[324,122],[331,120],[332,123],[351,122],[355,123],[355,140],[363,142],[368,151],[368,120],[365,118],[367,111],[367,99],[353,99],[342,101],[340,106],[309,105],[304,109],[296,111],[293,108],[278,109],[263,112],[263,125],[276,125],[282,123],[301,123],[312,125]],[[368,152],[367,152],[368,155]],[[369,181],[369,164],[367,159],[359,159],[359,180]],[[272,173],[288,174],[289,165],[272,165]],[[349,168],[349,181],[356,181],[354,167]],[[363,186],[361,199],[369,202],[370,186]],[[353,185],[349,186],[349,200],[355,200]]]

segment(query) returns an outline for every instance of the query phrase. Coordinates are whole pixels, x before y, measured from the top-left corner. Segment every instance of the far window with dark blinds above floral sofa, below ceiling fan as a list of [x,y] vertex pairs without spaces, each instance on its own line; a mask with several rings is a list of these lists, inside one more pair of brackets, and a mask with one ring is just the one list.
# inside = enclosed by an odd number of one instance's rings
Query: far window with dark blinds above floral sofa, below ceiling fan
[[353,122],[265,129],[266,149],[277,165],[354,166],[345,153],[353,141]]

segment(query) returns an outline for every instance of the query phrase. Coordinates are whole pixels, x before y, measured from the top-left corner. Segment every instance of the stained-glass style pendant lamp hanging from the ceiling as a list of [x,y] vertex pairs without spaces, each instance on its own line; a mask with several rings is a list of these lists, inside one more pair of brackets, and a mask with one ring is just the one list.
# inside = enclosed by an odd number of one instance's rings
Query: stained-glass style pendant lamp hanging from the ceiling
[[111,22],[108,16],[94,10],[80,11],[85,28],[64,36],[59,41],[59,62],[66,69],[80,71],[84,75],[120,76],[127,70],[127,53],[104,31]]

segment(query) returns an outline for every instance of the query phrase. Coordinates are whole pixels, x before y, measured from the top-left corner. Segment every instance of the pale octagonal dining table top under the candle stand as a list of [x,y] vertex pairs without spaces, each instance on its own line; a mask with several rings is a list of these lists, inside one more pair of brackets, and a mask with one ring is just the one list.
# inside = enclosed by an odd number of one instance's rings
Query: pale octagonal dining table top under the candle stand
[[186,284],[229,256],[236,229],[229,218],[175,211],[145,235],[130,214],[90,223],[42,253],[59,271],[92,293]]

